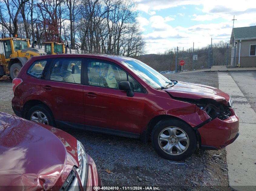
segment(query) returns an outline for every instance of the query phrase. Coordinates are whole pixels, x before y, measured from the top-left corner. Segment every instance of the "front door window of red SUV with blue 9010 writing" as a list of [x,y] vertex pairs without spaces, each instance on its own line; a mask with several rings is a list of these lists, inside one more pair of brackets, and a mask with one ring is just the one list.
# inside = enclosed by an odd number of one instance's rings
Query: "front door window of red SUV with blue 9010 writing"
[[123,69],[114,64],[88,60],[87,67],[89,85],[118,89],[120,81],[129,81],[131,90],[141,92],[141,85]]

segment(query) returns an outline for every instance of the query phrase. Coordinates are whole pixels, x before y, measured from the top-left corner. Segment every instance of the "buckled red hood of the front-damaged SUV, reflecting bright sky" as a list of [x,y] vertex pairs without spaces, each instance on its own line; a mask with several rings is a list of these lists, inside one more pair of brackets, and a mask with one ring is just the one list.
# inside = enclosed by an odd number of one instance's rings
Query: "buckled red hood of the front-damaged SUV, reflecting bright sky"
[[202,84],[192,84],[186,82],[178,82],[173,87],[165,89],[173,97],[190,98],[190,99],[202,99],[210,98],[218,102],[221,102],[228,106],[230,96],[225,92]]

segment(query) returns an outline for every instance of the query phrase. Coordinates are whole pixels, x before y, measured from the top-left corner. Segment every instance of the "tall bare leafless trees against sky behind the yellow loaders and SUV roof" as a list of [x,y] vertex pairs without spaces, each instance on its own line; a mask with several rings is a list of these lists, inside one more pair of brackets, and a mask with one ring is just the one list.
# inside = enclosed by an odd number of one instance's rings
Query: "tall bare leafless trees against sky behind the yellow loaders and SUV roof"
[[133,0],[2,0],[0,34],[135,57],[145,52],[135,8]]

